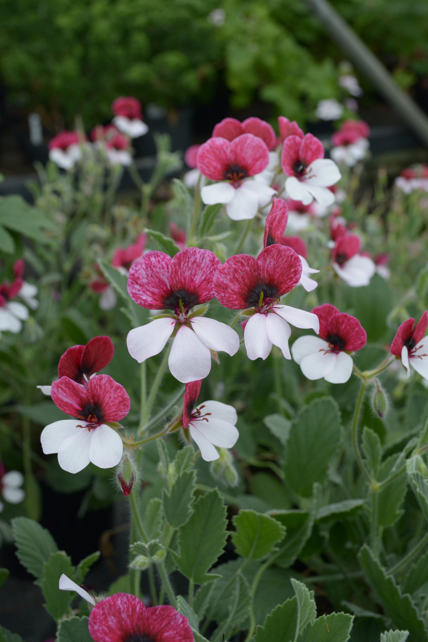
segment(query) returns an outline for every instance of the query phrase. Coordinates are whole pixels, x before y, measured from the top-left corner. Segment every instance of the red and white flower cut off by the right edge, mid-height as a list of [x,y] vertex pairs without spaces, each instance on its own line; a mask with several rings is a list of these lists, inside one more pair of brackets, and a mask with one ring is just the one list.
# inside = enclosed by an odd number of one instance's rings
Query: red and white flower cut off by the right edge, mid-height
[[401,358],[407,377],[410,376],[412,366],[424,379],[428,379],[428,341],[425,337],[427,325],[428,312],[425,310],[416,325],[414,318],[402,323],[391,344],[391,354]]

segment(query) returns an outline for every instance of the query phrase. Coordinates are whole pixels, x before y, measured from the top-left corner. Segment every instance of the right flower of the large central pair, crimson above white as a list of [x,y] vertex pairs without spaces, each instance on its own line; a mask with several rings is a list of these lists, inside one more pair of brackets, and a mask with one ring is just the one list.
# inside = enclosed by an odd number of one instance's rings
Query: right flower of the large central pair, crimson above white
[[248,358],[266,359],[277,345],[286,359],[291,355],[288,339],[291,329],[311,327],[318,333],[318,317],[290,306],[280,305],[280,297],[298,284],[302,261],[285,245],[269,245],[257,259],[238,254],[227,259],[214,276],[213,288],[219,302],[232,310],[247,309],[244,343]]

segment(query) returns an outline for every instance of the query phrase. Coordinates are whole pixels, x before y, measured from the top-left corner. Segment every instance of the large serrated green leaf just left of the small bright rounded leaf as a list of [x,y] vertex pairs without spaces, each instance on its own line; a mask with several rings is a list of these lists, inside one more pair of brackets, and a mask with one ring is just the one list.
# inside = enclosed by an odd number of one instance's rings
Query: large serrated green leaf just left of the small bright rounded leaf
[[197,499],[193,507],[193,515],[178,532],[180,556],[176,562],[185,577],[195,584],[205,584],[212,581],[207,571],[226,543],[226,507],[216,489]]

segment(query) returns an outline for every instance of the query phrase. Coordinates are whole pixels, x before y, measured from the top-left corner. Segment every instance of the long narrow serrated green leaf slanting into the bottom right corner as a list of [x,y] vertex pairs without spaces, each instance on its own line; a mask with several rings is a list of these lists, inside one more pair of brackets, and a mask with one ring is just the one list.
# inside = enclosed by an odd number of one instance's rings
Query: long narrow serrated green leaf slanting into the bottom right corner
[[[411,597],[402,595],[393,577],[388,577],[385,570],[375,559],[372,551],[364,545],[358,553],[358,561],[364,575],[389,618],[400,627],[407,629],[415,642],[426,642],[427,630],[424,621],[418,616]],[[413,637],[414,636],[414,637]]]

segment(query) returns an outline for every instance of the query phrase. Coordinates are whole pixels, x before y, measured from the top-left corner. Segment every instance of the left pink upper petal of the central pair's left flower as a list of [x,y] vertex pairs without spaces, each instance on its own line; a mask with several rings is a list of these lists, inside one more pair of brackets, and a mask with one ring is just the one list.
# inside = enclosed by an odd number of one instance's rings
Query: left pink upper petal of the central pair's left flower
[[128,292],[131,299],[142,308],[159,310],[171,294],[168,268],[171,257],[164,252],[147,252],[131,266],[128,277]]

